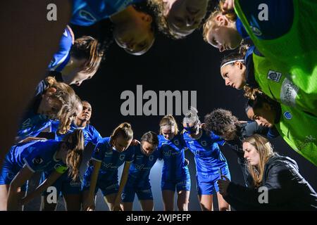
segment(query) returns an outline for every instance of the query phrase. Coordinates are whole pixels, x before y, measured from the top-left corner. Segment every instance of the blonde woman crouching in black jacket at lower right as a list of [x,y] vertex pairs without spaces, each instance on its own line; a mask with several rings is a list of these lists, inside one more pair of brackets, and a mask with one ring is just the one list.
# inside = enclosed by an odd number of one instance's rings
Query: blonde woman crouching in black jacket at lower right
[[218,180],[219,192],[235,210],[317,210],[317,194],[299,174],[297,163],[273,152],[259,134],[243,141],[253,187]]

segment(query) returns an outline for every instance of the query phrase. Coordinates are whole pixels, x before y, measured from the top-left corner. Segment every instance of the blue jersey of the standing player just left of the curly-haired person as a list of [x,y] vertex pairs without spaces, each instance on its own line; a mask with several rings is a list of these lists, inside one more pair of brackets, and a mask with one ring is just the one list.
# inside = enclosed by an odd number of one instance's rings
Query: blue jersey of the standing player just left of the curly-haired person
[[219,168],[228,166],[227,160],[218,146],[218,143],[223,146],[225,141],[213,133],[206,134],[202,129],[201,132],[199,139],[193,139],[187,131],[183,136],[187,148],[194,154],[197,174],[211,175],[218,172]]

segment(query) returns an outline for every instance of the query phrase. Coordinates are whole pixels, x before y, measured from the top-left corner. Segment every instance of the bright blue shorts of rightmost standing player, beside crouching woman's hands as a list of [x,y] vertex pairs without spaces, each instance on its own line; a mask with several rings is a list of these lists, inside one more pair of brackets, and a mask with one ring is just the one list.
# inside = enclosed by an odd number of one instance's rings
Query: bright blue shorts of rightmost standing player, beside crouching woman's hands
[[[227,176],[231,180],[228,167],[221,168],[221,172],[224,176]],[[216,172],[211,175],[202,175],[197,173],[197,193],[198,195],[213,195],[219,192],[217,181],[220,179],[220,173]]]

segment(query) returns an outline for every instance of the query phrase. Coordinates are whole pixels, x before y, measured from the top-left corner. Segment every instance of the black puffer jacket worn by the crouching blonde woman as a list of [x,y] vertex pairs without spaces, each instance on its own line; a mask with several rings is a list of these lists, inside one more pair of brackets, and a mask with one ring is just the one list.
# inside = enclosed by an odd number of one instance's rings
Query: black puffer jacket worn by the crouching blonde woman
[[317,194],[291,158],[277,154],[271,157],[264,168],[261,186],[268,189],[267,203],[259,203],[259,198],[265,200],[260,188],[232,182],[224,198],[235,210],[317,210]]

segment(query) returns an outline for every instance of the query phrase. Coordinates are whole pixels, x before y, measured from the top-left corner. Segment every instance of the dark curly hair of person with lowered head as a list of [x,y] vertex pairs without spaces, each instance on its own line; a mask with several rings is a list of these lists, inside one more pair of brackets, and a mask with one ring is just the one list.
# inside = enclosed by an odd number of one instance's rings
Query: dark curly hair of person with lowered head
[[205,116],[204,129],[207,132],[213,132],[216,135],[223,136],[224,134],[237,133],[237,128],[240,125],[237,117],[232,115],[229,110],[218,108]]

